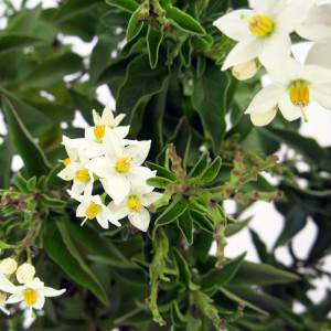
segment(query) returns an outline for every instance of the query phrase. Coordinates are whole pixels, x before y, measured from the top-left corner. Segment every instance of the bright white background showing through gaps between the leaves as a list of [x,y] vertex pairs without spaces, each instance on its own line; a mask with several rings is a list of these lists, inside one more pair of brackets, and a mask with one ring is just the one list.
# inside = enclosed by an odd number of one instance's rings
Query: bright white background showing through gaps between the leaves
[[[301,0],[305,1],[305,0]],[[30,0],[28,1],[29,7],[34,7],[38,3],[42,2],[43,7],[54,7],[56,6],[55,0]],[[330,2],[330,1],[323,1]],[[15,8],[20,7],[21,0],[12,0],[12,3]],[[0,18],[1,12],[3,10],[3,4],[0,4]],[[0,28],[3,28],[6,22],[0,19]],[[76,38],[65,38],[64,40],[67,43],[74,44],[74,51],[86,55],[90,52],[93,45],[96,41],[92,43],[83,43]],[[303,62],[306,54],[311,46],[311,43],[296,45],[293,49],[293,53],[296,57]],[[330,56],[330,54],[325,54],[325,56]],[[115,102],[111,95],[109,94],[106,86],[102,86],[97,90],[99,100],[110,106],[115,107]],[[331,145],[331,135],[330,135],[330,125],[331,125],[331,111],[328,111],[321,108],[318,105],[313,105],[312,109],[308,113],[309,121],[303,124],[301,127],[301,134],[307,137],[312,137],[319,141],[321,146],[330,146]],[[75,119],[75,125],[77,127],[85,127],[86,122],[77,114]],[[0,114],[0,134],[6,134],[6,127],[3,125],[3,120]],[[284,150],[279,152],[279,157],[281,158]],[[19,157],[15,157],[13,162],[13,169],[19,169],[22,164],[22,161]],[[233,212],[233,203],[226,202],[226,209],[231,213]],[[276,238],[278,237],[281,228],[282,228],[282,217],[275,210],[273,204],[258,202],[253,207],[247,210],[243,215],[243,218],[253,215],[253,220],[250,222],[250,227],[255,229],[263,241],[267,244],[268,248],[271,248]],[[298,257],[305,258],[309,253],[313,238],[316,237],[317,228],[312,221],[309,221],[307,226],[296,236],[293,242],[293,249]],[[247,259],[252,261],[257,261],[257,254],[255,252],[254,245],[250,242],[249,234],[247,229],[242,231],[239,234],[228,238],[228,243],[226,246],[226,256],[235,257],[243,252],[247,252]],[[286,248],[281,247],[276,250],[277,257],[284,261],[285,264],[289,264],[291,261],[291,257]],[[331,257],[327,258],[324,261],[324,269],[331,270]],[[329,279],[325,277],[323,279],[316,281],[316,290],[311,290],[309,292],[310,298],[318,302],[323,297],[325,289],[331,289],[331,284]],[[296,306],[297,311],[299,312],[302,307],[300,305]]]

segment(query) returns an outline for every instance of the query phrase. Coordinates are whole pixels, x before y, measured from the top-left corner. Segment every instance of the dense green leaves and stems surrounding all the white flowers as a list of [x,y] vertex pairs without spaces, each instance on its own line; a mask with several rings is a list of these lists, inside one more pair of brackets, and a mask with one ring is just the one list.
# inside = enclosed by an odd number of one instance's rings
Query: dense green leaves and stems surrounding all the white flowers
[[[8,128],[0,145],[1,254],[33,258],[45,281],[67,289],[46,302],[29,330],[331,328],[330,293],[318,305],[308,297],[316,279],[330,277],[322,261],[330,252],[331,151],[300,136],[299,121],[278,115],[256,128],[243,114],[260,81],[237,82],[220,70],[232,41],[212,23],[245,7],[236,0],[7,7],[0,33]],[[66,36],[89,42],[90,54],[75,52]],[[127,115],[130,138],[152,140],[148,166],[157,177],[149,184],[163,196],[150,206],[147,234],[128,222],[108,231],[81,227],[56,177],[62,134],[84,135],[73,125],[75,111],[92,124],[92,109],[103,108],[99,86]],[[273,154],[284,146],[292,152],[277,163]],[[24,162],[18,173],[11,170],[15,154]],[[234,215],[226,214],[225,200],[236,202]],[[249,223],[241,214],[260,200],[275,201],[285,220],[275,247],[268,252],[252,231],[261,263],[245,255],[227,259],[226,241]],[[301,260],[291,247],[308,220],[318,236]],[[280,246],[289,247],[290,266],[277,260]],[[293,312],[296,302],[305,312]],[[23,330],[22,323],[20,313],[0,319],[1,330]]]

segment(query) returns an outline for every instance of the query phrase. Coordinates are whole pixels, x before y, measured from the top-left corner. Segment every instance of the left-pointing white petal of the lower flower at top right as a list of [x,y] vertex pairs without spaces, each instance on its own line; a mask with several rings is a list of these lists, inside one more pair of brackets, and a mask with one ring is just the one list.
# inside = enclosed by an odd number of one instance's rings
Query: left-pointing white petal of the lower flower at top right
[[285,93],[282,86],[271,84],[263,88],[252,100],[246,114],[266,114],[277,106],[278,100]]

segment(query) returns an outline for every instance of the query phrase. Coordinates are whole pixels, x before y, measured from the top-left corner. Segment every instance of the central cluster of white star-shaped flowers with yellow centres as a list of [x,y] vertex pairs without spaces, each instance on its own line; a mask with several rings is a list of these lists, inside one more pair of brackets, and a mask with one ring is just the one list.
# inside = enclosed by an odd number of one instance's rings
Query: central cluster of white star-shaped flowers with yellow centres
[[[73,181],[68,193],[79,202],[76,216],[84,218],[82,224],[96,220],[103,228],[109,223],[120,226],[118,221],[128,216],[135,227],[146,232],[150,223],[146,206],[161,195],[147,184],[156,171],[142,167],[151,142],[126,139],[129,127],[119,126],[124,115],[114,117],[108,107],[102,117],[93,110],[93,118],[94,127],[86,129],[85,138],[63,137],[68,158],[58,177]],[[93,192],[97,181],[100,194]]]

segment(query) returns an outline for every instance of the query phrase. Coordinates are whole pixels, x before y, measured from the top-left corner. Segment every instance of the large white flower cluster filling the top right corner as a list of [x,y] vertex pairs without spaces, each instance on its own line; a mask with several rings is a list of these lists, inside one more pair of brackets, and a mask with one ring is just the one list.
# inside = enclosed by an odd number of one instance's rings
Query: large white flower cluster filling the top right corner
[[305,64],[292,55],[290,35],[296,33],[316,47],[330,50],[331,4],[316,0],[256,0],[253,8],[232,11],[214,25],[237,44],[223,70],[233,68],[238,79],[248,79],[263,65],[271,78],[246,109],[256,126],[268,125],[278,109],[287,120],[303,117],[312,102],[331,109],[331,63],[314,47]]

